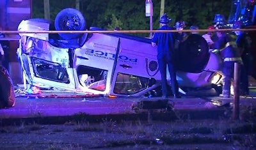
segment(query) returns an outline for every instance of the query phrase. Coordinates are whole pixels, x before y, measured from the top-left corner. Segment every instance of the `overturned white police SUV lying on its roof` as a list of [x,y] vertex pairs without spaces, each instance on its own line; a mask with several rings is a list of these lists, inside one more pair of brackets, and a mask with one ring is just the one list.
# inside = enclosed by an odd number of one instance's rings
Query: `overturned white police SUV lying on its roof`
[[[67,8],[53,22],[29,19],[19,31],[86,31],[80,11]],[[90,27],[88,31],[105,31]],[[20,33],[18,55],[29,84],[104,96],[160,96],[157,49],[151,40],[122,33]],[[221,58],[190,34],[179,45],[182,95],[220,94]],[[170,77],[168,77],[170,79]],[[172,88],[172,87],[170,87]],[[171,90],[170,90],[171,91]],[[170,93],[170,96],[172,93]]]

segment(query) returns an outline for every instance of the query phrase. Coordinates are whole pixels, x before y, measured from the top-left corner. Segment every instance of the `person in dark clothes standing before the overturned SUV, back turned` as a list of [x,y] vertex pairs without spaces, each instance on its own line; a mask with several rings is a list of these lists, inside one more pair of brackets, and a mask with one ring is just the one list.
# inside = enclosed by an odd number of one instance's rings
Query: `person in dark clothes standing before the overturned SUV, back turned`
[[[158,30],[173,30],[173,27],[168,26],[170,20],[172,19],[169,19],[168,15],[164,13],[164,15],[159,20],[161,27]],[[157,45],[157,62],[159,64],[159,70],[161,73],[163,98],[167,98],[168,96],[166,66],[168,66],[171,77],[173,96],[174,98],[180,98],[179,85],[176,79],[177,52],[175,52],[174,48],[175,40],[182,40],[181,34],[172,32],[155,33],[152,38],[152,46],[155,47]]]

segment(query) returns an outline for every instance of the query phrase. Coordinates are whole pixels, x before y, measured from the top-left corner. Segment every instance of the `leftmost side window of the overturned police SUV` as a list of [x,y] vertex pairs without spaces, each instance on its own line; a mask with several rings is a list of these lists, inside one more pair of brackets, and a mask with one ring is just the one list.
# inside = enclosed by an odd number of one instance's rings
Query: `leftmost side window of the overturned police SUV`
[[60,64],[38,59],[36,57],[31,57],[31,60],[36,77],[69,83],[67,70],[61,67]]

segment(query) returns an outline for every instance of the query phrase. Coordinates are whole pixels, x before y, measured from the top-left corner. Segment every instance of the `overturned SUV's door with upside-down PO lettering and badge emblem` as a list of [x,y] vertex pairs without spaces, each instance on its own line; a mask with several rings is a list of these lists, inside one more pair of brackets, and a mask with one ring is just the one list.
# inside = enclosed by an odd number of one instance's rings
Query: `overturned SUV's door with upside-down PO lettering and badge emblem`
[[111,93],[140,96],[150,87],[150,79],[160,78],[157,48],[152,47],[150,40],[120,37]]

